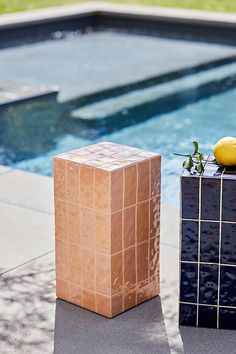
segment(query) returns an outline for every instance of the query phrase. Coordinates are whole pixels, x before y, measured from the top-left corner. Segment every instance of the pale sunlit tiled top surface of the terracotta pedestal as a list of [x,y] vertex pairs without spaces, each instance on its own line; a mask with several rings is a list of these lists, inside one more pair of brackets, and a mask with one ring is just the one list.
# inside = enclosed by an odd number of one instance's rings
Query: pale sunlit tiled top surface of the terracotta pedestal
[[157,156],[160,155],[130,146],[102,142],[57,155],[55,158],[113,171]]

